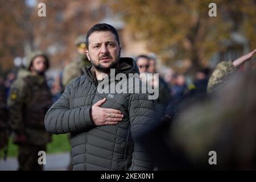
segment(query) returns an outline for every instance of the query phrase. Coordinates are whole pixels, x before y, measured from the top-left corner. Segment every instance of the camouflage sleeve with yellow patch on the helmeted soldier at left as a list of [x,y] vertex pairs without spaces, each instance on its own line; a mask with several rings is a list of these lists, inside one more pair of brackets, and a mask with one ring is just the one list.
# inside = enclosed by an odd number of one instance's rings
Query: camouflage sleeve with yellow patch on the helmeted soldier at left
[[10,94],[7,98],[9,107],[9,123],[11,130],[16,134],[24,134],[23,106],[27,96],[27,86],[23,79],[17,79],[10,88]]

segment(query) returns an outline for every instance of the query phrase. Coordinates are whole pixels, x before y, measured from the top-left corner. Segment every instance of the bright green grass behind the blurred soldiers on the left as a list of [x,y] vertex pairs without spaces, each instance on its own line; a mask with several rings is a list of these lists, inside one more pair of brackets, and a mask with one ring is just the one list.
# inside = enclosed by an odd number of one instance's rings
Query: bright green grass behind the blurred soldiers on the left
[[[71,151],[68,134],[52,135],[52,142],[47,144],[47,154],[57,154]],[[2,153],[2,151],[1,151]],[[9,139],[8,156],[18,156],[18,146]]]

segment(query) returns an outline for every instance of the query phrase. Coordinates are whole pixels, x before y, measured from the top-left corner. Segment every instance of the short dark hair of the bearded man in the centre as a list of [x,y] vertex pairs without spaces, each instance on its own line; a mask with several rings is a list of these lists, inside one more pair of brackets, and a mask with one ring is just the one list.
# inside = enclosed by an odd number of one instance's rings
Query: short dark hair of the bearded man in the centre
[[86,34],[86,46],[87,46],[88,49],[89,49],[89,36],[93,32],[97,32],[97,31],[110,31],[110,32],[112,32],[115,35],[115,39],[117,40],[118,46],[120,46],[119,36],[118,36],[117,30],[113,26],[111,26],[110,24],[99,23],[99,24],[94,24],[94,26],[92,28],[90,28],[90,30]]

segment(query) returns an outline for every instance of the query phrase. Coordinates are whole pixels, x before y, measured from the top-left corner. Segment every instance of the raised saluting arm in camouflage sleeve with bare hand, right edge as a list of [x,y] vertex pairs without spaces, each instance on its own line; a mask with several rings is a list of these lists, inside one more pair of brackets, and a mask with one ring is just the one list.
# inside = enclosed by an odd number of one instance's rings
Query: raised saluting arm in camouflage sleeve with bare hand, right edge
[[250,53],[247,53],[246,55],[243,55],[242,57],[239,57],[234,61],[222,61],[221,63],[219,63],[214,69],[212,76],[210,76],[209,78],[207,92],[213,92],[214,90],[218,89],[220,85],[225,84],[226,80],[228,80],[230,76],[234,75],[234,73],[237,72],[238,68],[247,60],[250,60],[250,58],[255,53],[256,49],[254,49]]

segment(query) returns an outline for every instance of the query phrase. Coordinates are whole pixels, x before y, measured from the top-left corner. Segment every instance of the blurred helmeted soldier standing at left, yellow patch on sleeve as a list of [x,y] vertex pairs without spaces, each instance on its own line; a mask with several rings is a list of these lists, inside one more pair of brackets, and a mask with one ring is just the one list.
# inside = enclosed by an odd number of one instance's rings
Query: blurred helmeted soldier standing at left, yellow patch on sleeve
[[52,104],[44,76],[48,67],[49,60],[44,53],[32,53],[26,69],[19,71],[11,85],[7,99],[14,143],[18,144],[19,170],[42,170],[38,152],[46,151],[46,144],[51,142],[51,135],[44,127],[44,115]]

